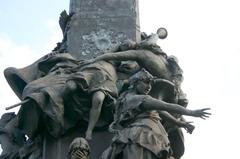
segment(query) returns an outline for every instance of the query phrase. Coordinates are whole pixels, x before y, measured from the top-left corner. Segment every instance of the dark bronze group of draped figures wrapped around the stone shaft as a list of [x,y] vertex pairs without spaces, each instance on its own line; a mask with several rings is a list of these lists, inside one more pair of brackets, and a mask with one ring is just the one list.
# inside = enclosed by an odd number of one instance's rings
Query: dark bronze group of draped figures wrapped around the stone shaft
[[88,141],[96,129],[114,134],[101,159],[180,159],[181,128],[194,130],[183,115],[205,119],[211,114],[209,108],[186,109],[183,71],[177,58],[157,45],[167,31],[142,33],[140,42],[125,40],[113,52],[77,59],[67,52],[71,16],[62,12],[64,39],[50,54],[22,72],[5,70],[21,100],[7,109],[21,107],[0,119],[0,158],[41,159],[46,134],[58,139],[80,127],[85,133],[68,145],[69,159],[90,158]]

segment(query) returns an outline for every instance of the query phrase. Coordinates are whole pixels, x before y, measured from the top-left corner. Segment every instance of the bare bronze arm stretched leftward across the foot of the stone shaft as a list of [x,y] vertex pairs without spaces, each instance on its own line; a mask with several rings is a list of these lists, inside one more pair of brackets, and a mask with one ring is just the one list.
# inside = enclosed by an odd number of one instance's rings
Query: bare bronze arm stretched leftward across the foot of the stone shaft
[[105,53],[103,55],[97,56],[95,58],[95,61],[100,60],[138,61],[139,56],[142,56],[141,52],[142,50],[128,50],[116,53]]

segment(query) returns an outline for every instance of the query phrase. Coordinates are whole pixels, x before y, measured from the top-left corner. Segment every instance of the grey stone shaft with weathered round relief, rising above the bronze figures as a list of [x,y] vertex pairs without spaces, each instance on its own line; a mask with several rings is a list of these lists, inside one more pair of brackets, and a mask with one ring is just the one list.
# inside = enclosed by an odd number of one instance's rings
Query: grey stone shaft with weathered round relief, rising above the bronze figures
[[75,13],[67,33],[68,51],[89,59],[114,51],[124,40],[140,40],[138,0],[70,0]]

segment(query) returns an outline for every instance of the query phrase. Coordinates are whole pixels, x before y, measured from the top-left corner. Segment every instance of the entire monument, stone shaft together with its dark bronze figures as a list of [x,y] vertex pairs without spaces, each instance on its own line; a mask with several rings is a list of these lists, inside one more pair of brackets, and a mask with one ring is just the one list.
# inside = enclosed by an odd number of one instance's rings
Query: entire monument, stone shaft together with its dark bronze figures
[[180,159],[186,109],[183,71],[157,40],[140,31],[138,0],[70,0],[63,39],[24,68],[7,68],[21,100],[0,120],[1,158]]

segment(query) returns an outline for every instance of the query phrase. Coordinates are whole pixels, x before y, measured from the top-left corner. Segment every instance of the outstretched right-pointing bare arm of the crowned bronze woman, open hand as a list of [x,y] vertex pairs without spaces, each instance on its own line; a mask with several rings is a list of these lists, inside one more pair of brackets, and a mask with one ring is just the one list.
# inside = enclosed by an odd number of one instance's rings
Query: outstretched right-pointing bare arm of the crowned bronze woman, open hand
[[146,111],[147,110],[163,110],[163,111],[178,113],[182,115],[200,117],[202,119],[205,119],[209,117],[209,115],[211,115],[211,113],[206,112],[207,110],[210,110],[210,108],[189,110],[178,104],[167,103],[162,100],[154,99],[150,96],[148,96],[148,98],[145,99],[141,107],[143,110],[146,110]]

